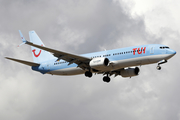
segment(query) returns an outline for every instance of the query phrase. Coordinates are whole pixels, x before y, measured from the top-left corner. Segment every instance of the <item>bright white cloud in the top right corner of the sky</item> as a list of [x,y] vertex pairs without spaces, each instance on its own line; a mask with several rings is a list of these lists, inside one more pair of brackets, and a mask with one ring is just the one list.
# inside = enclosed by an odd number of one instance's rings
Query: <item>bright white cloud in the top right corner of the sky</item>
[[158,35],[163,28],[179,32],[180,16],[178,11],[180,7],[178,0],[129,0],[128,2],[133,3],[130,12],[132,16],[144,16],[148,32]]

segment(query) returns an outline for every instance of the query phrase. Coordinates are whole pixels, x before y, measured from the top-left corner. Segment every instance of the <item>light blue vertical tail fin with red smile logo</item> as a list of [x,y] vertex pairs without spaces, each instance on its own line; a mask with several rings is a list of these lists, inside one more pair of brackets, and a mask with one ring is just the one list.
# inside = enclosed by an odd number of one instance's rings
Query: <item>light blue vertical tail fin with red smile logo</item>
[[[35,31],[29,31],[29,38],[33,44],[45,46]],[[33,60],[35,63],[41,63],[48,60],[55,59],[55,57],[47,51],[31,46]]]

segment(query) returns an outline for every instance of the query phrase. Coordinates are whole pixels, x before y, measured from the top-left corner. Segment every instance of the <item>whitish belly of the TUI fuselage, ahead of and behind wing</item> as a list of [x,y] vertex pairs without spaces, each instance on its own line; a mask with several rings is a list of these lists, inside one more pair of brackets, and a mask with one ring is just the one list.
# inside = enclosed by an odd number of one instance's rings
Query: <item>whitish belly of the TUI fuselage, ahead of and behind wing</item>
[[[111,64],[107,68],[104,68],[102,71],[113,71],[113,70],[118,70],[118,69],[122,69],[126,67],[157,63],[160,60],[165,59],[166,57],[167,57],[166,54],[165,55],[151,55],[151,56],[143,56],[143,57],[137,57],[137,58],[112,61],[113,64]],[[48,74],[53,74],[53,75],[78,75],[78,74],[84,74],[84,73],[85,73],[84,70],[77,67],[58,69],[58,70],[48,72]]]

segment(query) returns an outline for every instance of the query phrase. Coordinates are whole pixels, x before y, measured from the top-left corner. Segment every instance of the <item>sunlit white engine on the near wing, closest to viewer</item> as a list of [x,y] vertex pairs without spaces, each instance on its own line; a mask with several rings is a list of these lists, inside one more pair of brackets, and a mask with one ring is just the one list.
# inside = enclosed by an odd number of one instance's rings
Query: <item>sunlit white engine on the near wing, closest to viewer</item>
[[91,68],[94,68],[96,70],[102,70],[103,68],[109,65],[109,59],[108,58],[93,58],[89,62],[89,65]]

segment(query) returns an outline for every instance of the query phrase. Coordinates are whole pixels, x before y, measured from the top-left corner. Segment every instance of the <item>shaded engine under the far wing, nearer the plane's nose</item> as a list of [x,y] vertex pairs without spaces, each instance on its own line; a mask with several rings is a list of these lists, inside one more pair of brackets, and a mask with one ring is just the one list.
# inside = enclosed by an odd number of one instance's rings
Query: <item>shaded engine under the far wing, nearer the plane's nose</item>
[[133,77],[133,76],[137,76],[139,73],[139,68],[128,68],[128,69],[124,69],[121,70],[121,76],[122,77]]

